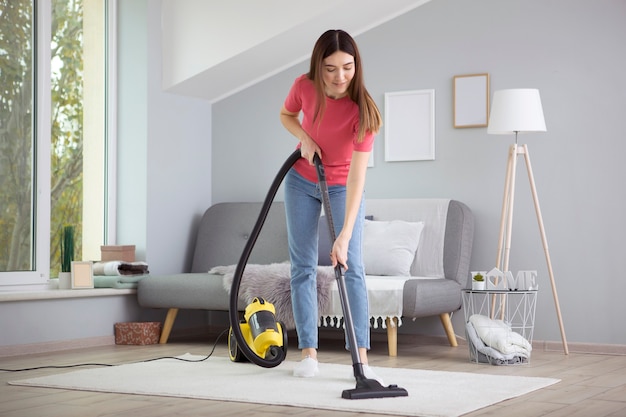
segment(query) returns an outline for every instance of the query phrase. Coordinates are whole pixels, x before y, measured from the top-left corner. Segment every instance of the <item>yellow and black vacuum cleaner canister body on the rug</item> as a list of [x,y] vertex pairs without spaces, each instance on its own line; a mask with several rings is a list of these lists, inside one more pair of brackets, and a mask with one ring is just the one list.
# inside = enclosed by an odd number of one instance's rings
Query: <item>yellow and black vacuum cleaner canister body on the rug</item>
[[[283,324],[276,321],[274,304],[256,297],[246,307],[243,317],[244,320],[239,323],[239,328],[246,344],[259,358],[271,360],[278,356],[283,358],[286,356],[287,332]],[[232,327],[228,337],[228,351],[231,361],[246,360],[245,355],[237,346]]]

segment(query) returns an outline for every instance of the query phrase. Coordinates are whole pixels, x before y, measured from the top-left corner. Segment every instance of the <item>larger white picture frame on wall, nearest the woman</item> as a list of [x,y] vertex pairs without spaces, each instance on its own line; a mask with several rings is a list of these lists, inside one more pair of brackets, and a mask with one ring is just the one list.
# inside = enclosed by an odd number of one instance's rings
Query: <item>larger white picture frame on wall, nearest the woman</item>
[[385,161],[435,159],[435,90],[385,93]]

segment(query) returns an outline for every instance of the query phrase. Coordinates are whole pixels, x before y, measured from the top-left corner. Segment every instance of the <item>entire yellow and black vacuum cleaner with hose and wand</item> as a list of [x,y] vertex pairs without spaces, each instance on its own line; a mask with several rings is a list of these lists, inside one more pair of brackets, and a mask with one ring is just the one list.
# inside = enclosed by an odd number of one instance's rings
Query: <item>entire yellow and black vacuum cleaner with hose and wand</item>
[[[246,307],[243,320],[239,319],[237,307],[241,278],[243,276],[243,271],[248,258],[250,257],[250,253],[252,252],[252,248],[254,247],[256,239],[260,234],[263,223],[267,218],[267,214],[269,213],[272,202],[274,201],[274,197],[283,178],[287,175],[291,166],[300,158],[300,149],[297,149],[289,156],[289,158],[287,158],[278,175],[274,178],[261,208],[259,218],[257,219],[257,222],[250,234],[250,238],[246,243],[241,258],[239,259],[239,263],[235,269],[229,305],[229,352],[231,360],[233,361],[242,360],[245,356],[245,358],[259,366],[270,368],[282,363],[287,354],[287,332],[282,323],[276,321],[273,311],[274,306],[271,305],[271,303],[262,299],[255,299],[253,303]],[[324,165],[317,154],[314,156],[314,162],[322,194],[324,212],[326,213],[326,218],[328,220],[331,243],[333,243],[335,241],[336,234],[332,219],[332,210],[330,206],[330,197],[328,195],[328,185],[326,183]],[[346,283],[341,265],[337,264],[334,271],[341,300],[346,336],[350,346],[352,368],[356,379],[356,387],[344,390],[341,397],[353,400],[408,396],[408,392],[404,388],[398,387],[397,385],[389,385],[385,387],[375,379],[365,377],[363,372],[363,363],[361,362],[361,357],[357,347],[356,333],[354,331],[352,313],[350,310]]]

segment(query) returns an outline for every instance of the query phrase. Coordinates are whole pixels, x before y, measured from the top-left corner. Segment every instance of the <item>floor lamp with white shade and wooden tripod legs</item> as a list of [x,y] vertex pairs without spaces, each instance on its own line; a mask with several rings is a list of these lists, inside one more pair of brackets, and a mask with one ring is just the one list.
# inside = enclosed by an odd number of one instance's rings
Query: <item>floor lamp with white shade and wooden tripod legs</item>
[[546,123],[543,118],[543,108],[541,106],[539,90],[509,89],[498,90],[494,93],[487,133],[496,135],[515,134],[515,143],[513,143],[509,148],[509,156],[506,165],[506,178],[504,180],[504,198],[502,202],[502,216],[500,219],[500,234],[498,236],[498,255],[496,257],[496,267],[503,272],[509,270],[511,230],[513,226],[513,201],[515,197],[515,171],[517,168],[517,157],[519,155],[523,155],[524,162],[526,163],[526,169],[528,171],[530,190],[535,204],[537,222],[539,223],[541,242],[543,244],[546,262],[548,264],[548,274],[550,276],[556,315],[561,330],[563,350],[567,355],[569,354],[569,349],[565,338],[565,329],[563,327],[563,319],[561,317],[561,308],[559,307],[559,298],[556,293],[552,262],[550,261],[548,242],[543,226],[541,210],[539,208],[539,198],[537,197],[537,189],[535,188],[535,179],[530,165],[528,146],[525,144],[518,146],[517,144],[518,133],[545,131]]

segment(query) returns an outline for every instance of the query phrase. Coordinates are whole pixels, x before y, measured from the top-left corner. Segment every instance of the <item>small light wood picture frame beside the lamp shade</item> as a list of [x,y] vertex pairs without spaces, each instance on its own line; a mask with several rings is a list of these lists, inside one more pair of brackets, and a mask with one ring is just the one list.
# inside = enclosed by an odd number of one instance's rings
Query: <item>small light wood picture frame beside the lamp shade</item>
[[487,127],[489,74],[454,76],[454,127]]

